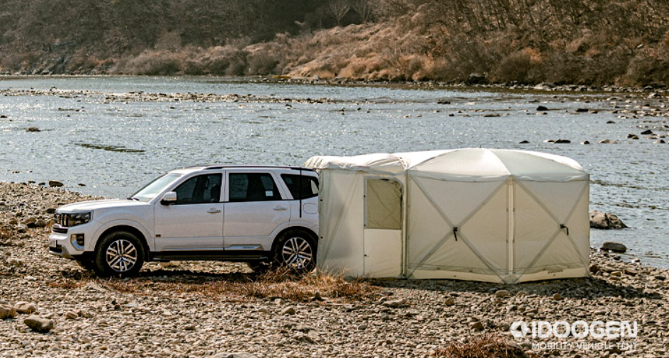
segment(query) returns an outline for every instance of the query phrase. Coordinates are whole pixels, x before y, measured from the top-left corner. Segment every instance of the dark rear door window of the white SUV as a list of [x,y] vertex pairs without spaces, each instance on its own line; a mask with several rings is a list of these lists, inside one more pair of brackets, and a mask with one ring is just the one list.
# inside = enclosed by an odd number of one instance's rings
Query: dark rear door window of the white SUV
[[230,173],[230,202],[281,200],[279,189],[268,173]]

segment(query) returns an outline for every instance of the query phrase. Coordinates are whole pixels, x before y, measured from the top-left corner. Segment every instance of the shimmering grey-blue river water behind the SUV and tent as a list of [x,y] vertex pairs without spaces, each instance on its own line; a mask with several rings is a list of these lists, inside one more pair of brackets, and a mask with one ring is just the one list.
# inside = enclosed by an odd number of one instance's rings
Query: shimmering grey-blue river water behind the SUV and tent
[[[636,97],[206,77],[0,78],[3,89],[53,94],[0,95],[0,116],[6,116],[0,118],[0,180],[57,179],[67,189],[125,197],[169,169],[192,164],[298,165],[313,155],[458,147],[537,150],[580,162],[592,176],[590,208],[616,213],[631,227],[592,230],[593,247],[623,242],[641,262],[669,267],[669,145],[640,135],[669,128],[665,117],[613,113],[616,107],[643,110]],[[106,101],[106,95],[131,91],[330,102]],[[549,108],[545,115],[536,114],[540,105]],[[598,113],[574,114],[576,108]],[[629,133],[640,139],[626,139]],[[544,142],[558,138],[571,142]],[[618,143],[597,144],[603,139]],[[581,145],[585,140],[592,144]]]

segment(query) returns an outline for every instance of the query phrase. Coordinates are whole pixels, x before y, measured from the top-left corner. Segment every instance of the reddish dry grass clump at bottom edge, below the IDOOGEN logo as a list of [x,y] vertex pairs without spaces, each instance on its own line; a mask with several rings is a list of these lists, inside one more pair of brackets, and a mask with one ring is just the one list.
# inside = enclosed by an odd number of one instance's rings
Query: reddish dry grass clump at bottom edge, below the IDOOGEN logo
[[439,358],[533,358],[535,354],[525,353],[521,347],[512,345],[498,335],[480,335],[467,342],[451,342],[438,349],[433,357]]

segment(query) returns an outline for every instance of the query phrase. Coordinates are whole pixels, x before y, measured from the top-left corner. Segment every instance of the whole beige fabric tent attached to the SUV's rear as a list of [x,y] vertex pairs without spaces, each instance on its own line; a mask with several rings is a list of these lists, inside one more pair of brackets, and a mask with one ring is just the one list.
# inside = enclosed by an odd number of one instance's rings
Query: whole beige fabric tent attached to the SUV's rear
[[352,276],[517,283],[588,276],[590,176],[520,150],[312,157],[317,262]]

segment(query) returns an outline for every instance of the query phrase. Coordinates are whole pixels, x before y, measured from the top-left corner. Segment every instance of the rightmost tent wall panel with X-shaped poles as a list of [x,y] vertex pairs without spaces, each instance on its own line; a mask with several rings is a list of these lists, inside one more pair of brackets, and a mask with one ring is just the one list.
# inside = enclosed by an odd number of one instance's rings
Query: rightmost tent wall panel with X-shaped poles
[[514,188],[512,282],[589,276],[590,179]]

